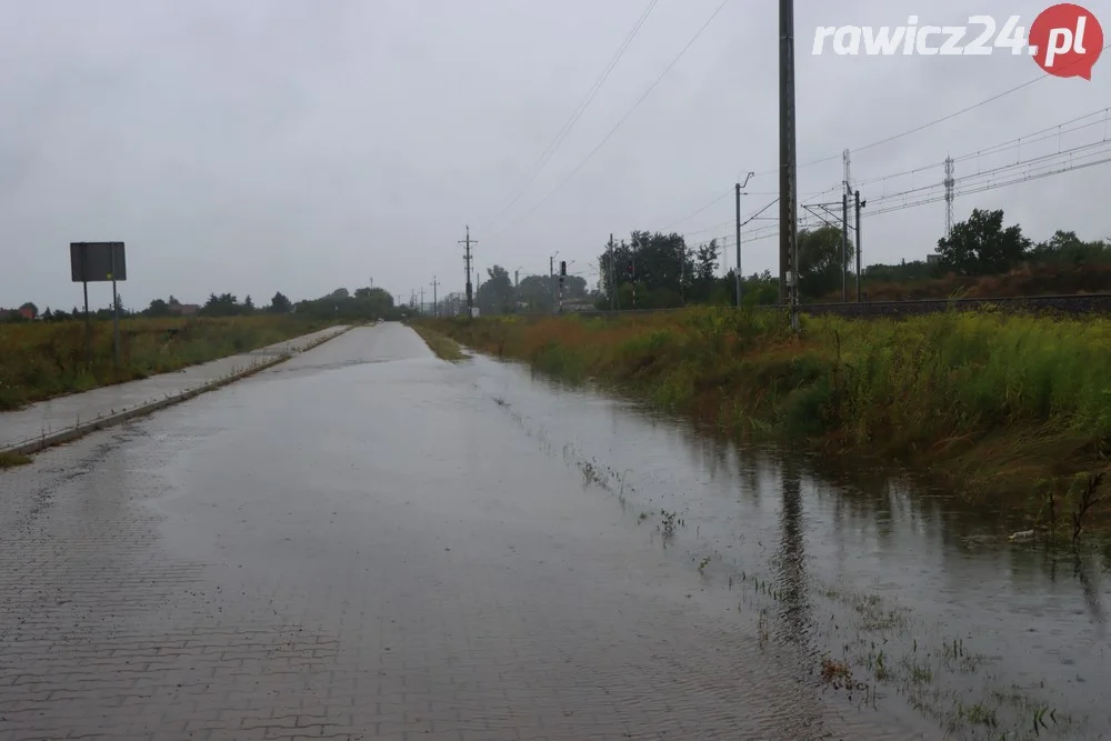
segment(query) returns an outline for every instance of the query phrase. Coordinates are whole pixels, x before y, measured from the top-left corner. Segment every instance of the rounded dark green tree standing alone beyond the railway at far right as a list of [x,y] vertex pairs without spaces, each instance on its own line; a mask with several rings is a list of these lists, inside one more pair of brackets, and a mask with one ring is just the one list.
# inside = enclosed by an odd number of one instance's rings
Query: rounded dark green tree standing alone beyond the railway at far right
[[950,237],[938,240],[947,270],[962,276],[1003,273],[1022,262],[1030,240],[1018,224],[1003,229],[1003,212],[975,209],[967,221],[953,224]]

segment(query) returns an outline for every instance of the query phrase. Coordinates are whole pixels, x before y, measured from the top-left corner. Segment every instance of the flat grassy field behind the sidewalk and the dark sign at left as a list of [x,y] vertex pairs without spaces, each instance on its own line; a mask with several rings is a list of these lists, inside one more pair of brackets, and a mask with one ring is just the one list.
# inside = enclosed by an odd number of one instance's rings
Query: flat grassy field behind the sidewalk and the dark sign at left
[[248,352],[328,323],[292,317],[127,319],[120,322],[119,371],[111,322],[92,323],[88,364],[83,322],[0,324],[0,411]]

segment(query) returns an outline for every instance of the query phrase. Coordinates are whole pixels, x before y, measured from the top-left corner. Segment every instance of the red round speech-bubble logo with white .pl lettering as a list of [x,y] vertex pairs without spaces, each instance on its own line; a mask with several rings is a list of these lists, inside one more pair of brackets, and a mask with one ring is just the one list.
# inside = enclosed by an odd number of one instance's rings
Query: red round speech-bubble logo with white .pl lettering
[[1062,2],[1034,20],[1029,43],[1038,67],[1050,74],[1091,80],[1103,53],[1103,27],[1087,8]]

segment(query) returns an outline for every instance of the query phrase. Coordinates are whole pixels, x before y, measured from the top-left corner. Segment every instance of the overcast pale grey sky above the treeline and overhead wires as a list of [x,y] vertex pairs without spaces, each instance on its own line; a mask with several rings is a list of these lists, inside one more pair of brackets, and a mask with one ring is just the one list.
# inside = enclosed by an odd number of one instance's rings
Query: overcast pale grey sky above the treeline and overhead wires
[[[483,271],[544,272],[559,251],[591,280],[611,232],[729,236],[739,178],[757,173],[745,218],[779,187],[775,3],[728,0],[644,97],[721,4],[659,0],[530,179],[650,0],[0,0],[0,306],[80,303],[71,241],[124,241],[120,290],[141,308],[371,280],[406,300],[433,279],[461,290],[468,224]],[[982,191],[958,197],[958,220],[1002,208],[1034,239],[1111,236],[1109,166],[982,190],[1068,167],[1058,152],[1111,157],[1111,59],[1084,81],[1005,49],[814,57],[819,26],[967,23],[968,3],[797,6],[800,197],[840,201],[841,152],[859,150],[865,263],[935,247],[944,203],[895,207],[940,194],[947,154],[958,192]],[[1007,3],[1027,27],[1043,8]],[[778,269],[774,230],[745,227],[745,273]]]

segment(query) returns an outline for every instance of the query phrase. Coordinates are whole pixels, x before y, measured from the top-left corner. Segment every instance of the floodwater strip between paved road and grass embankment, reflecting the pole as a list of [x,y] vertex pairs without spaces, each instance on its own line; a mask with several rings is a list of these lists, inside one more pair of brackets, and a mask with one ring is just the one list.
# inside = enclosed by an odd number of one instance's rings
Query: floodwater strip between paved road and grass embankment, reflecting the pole
[[1021,523],[879,468],[738,447],[517,363],[459,369],[847,701],[958,739],[1111,729],[1104,544],[1011,542]]

